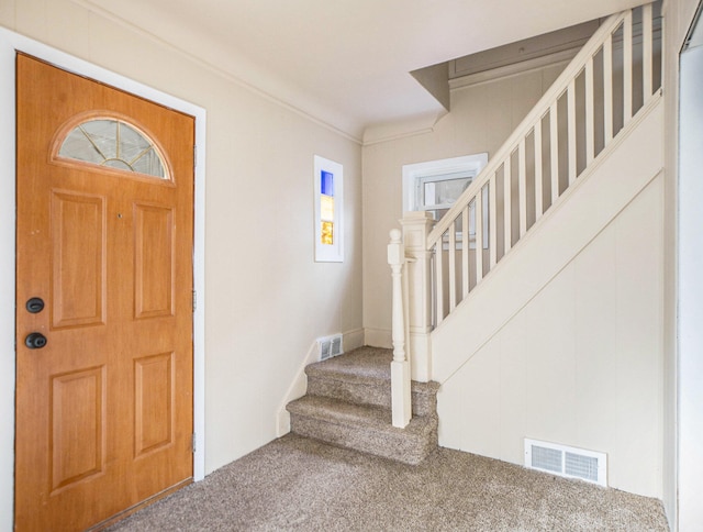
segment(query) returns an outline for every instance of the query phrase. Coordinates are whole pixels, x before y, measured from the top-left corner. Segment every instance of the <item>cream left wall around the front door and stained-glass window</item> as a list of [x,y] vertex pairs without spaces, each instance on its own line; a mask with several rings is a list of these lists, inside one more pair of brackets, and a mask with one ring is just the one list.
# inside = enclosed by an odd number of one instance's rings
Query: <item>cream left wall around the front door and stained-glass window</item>
[[[311,342],[335,332],[347,333],[347,346],[360,342],[360,146],[83,4],[3,0],[0,25],[207,110],[205,470],[267,443]],[[0,117],[7,131],[12,113]],[[314,154],[344,165],[343,264],[313,261]],[[13,180],[2,176],[0,195],[13,197]],[[13,256],[12,239],[1,242]],[[0,278],[13,271],[13,263],[0,263]],[[0,313],[12,326],[8,301]],[[0,375],[10,377],[2,383],[0,433],[9,436],[0,440],[0,530],[9,530],[14,332],[1,333]]]

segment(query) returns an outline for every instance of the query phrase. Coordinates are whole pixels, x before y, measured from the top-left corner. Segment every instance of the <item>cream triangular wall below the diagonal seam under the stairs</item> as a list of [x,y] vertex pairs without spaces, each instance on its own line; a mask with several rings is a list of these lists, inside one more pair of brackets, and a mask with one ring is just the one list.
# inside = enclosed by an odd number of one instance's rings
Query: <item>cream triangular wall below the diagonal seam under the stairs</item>
[[442,445],[605,452],[610,486],[661,497],[661,204],[658,178],[443,383]]

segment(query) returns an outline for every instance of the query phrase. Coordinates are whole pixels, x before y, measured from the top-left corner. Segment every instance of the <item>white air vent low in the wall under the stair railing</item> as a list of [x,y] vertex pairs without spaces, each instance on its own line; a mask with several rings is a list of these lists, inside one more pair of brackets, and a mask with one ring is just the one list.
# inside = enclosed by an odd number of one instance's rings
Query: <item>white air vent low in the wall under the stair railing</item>
[[607,486],[605,453],[525,439],[525,467]]

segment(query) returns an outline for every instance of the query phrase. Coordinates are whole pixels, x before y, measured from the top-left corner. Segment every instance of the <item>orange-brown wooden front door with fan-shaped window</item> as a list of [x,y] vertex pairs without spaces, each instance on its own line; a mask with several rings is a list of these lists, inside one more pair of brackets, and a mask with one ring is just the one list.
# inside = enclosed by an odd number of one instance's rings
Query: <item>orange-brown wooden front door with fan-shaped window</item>
[[85,530],[192,477],[194,121],[23,55],[16,106],[15,528]]

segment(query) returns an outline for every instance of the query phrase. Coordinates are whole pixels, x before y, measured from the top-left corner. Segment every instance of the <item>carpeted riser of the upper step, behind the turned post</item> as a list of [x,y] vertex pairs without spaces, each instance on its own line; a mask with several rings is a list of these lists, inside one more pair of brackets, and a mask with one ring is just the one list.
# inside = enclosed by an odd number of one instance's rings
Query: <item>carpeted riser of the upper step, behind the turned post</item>
[[[309,376],[308,394],[331,397],[355,404],[391,408],[391,390],[388,383],[369,385]],[[412,408],[413,415],[435,415],[437,412],[436,394],[412,392]]]

